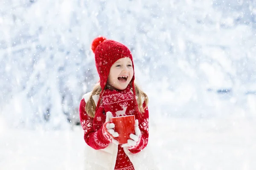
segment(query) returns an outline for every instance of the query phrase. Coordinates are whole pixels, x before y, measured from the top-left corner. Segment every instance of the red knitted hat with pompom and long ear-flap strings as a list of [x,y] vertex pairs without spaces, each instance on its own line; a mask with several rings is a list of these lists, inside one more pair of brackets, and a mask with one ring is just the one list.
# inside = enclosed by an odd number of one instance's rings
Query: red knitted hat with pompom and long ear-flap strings
[[[118,60],[124,57],[131,59],[132,67],[134,70],[134,62],[132,59],[131,51],[123,44],[116,42],[114,40],[108,40],[105,37],[97,37],[93,40],[91,49],[95,54],[95,65],[99,74],[99,82],[102,88],[102,91],[99,95],[99,101],[96,106],[95,113],[97,112],[100,104],[100,100],[105,90],[105,86],[108,82],[108,75],[110,72],[111,66]],[[134,94],[134,100],[136,101],[136,93],[134,87],[134,75],[131,79],[131,86]],[[138,111],[138,106],[136,109]]]

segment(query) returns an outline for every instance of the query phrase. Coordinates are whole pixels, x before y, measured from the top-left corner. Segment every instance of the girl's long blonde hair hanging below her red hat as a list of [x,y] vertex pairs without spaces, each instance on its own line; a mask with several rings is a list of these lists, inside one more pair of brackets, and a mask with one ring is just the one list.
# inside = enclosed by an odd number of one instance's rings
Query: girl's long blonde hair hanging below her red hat
[[[148,105],[148,96],[142,90],[140,90],[140,88],[138,87],[138,85],[135,82],[134,82],[134,86],[135,86],[136,96],[138,97],[137,98],[137,103],[138,103],[139,111],[140,111],[140,113],[144,113],[144,109]],[[93,100],[93,95],[99,95],[101,91],[102,91],[102,88],[100,87],[99,83],[96,84],[93,88],[93,91],[90,95],[89,100],[86,102],[85,111],[87,112],[87,114],[90,117],[95,116],[95,109],[96,109],[96,105],[95,105],[95,102]],[[143,102],[145,102],[145,107],[144,108],[143,108]]]

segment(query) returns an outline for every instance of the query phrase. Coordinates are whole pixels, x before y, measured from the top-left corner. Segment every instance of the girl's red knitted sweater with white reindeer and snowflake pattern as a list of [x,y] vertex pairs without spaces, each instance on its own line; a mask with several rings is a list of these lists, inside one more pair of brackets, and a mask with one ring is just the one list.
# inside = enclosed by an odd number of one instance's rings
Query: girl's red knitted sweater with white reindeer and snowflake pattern
[[[139,121],[139,128],[141,130],[141,139],[137,145],[130,148],[131,153],[138,153],[143,150],[148,143],[148,108],[145,108],[144,113],[135,113],[136,100],[133,98],[131,88],[126,88],[123,91],[111,91],[106,89],[102,102],[99,106],[95,117],[90,117],[85,111],[86,102],[81,100],[79,114],[81,125],[84,129],[84,140],[92,148],[98,150],[103,149],[109,145],[111,139],[103,133],[102,125],[105,123],[105,113],[111,111],[112,116],[134,115],[135,119]],[[143,107],[145,103],[143,103]],[[118,153],[116,156],[115,170],[134,170],[133,164],[125,154],[121,145],[118,146]]]

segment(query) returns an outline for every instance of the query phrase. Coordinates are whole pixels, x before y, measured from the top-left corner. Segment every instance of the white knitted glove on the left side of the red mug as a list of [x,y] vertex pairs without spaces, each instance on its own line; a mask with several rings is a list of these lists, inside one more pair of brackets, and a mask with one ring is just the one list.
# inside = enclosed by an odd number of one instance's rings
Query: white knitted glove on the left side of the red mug
[[112,143],[119,144],[119,142],[116,139],[114,139],[114,137],[119,136],[119,134],[115,130],[113,130],[113,128],[115,127],[115,124],[110,122],[111,117],[112,117],[112,113],[110,111],[108,111],[106,113],[106,121],[103,125],[104,126],[103,129],[111,137]]

